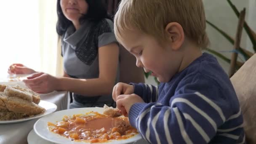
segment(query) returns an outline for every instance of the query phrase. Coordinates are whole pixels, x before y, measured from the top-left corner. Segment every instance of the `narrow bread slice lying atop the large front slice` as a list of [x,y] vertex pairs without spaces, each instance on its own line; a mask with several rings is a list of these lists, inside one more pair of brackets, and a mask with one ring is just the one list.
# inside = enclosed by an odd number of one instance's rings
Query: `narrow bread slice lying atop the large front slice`
[[16,88],[13,88],[9,85],[6,86],[4,90],[5,96],[11,96],[11,97],[19,97],[21,99],[27,100],[31,102],[33,100],[31,93],[26,93],[24,91],[20,91]]

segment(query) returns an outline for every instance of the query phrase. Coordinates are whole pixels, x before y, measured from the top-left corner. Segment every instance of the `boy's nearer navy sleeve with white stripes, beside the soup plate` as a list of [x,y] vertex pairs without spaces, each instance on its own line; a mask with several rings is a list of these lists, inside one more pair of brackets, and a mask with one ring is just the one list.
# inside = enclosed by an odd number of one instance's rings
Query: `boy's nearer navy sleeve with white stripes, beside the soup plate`
[[[152,144],[206,144],[231,116],[230,104],[216,97],[193,92],[173,96],[170,106],[137,103],[130,109],[129,120]],[[239,139],[242,123],[243,120],[229,128],[237,136],[230,140],[233,143]]]

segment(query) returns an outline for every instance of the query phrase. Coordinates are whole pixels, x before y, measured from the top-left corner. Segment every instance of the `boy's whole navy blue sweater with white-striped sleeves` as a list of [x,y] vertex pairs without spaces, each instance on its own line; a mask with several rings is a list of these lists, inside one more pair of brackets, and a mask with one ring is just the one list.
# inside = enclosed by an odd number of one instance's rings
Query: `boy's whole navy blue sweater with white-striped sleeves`
[[159,88],[132,84],[145,103],[133,104],[129,120],[150,143],[245,143],[235,90],[212,55],[203,53]]

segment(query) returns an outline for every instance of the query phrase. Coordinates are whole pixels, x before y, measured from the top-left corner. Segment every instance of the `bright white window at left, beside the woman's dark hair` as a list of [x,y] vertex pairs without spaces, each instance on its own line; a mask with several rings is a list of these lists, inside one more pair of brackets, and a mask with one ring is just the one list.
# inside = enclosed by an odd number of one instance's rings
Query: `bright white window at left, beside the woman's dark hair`
[[5,0],[0,9],[0,77],[21,63],[56,74],[56,0]]

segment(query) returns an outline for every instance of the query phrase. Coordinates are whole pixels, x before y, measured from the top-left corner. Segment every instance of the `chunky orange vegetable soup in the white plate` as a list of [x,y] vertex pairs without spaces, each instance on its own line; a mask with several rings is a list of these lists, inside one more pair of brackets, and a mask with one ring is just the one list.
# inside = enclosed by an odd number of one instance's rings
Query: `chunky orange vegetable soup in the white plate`
[[130,125],[128,117],[113,118],[89,112],[86,115],[64,116],[62,120],[56,124],[48,122],[48,128],[72,141],[107,142],[128,139],[138,134],[136,128]]

